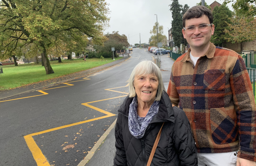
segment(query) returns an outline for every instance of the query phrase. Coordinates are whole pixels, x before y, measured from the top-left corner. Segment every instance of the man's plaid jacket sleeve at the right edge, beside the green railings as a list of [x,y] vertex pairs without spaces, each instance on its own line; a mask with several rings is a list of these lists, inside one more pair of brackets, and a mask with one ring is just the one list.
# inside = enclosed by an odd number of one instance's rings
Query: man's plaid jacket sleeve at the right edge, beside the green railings
[[[253,74],[253,73],[252,73]],[[256,108],[251,80],[239,55],[229,77],[239,129],[237,157],[256,161]]]

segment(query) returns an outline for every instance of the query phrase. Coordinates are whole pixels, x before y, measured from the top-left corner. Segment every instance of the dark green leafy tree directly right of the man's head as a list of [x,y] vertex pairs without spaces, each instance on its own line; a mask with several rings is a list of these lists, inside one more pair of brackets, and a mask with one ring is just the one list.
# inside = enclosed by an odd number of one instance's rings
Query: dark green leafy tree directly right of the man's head
[[215,45],[223,47],[223,43],[227,41],[226,38],[229,38],[229,34],[225,33],[225,29],[229,30],[229,18],[232,17],[232,14],[233,12],[225,5],[213,8],[213,24],[215,29],[211,42]]

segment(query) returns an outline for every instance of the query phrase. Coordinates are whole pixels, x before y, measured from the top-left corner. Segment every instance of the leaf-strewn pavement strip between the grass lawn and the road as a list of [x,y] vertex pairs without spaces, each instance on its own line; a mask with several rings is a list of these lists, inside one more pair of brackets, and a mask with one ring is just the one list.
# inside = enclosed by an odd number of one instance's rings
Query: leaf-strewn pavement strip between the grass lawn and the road
[[[121,56],[121,55],[120,55]],[[119,59],[117,61],[105,64],[105,65],[101,65],[92,69],[87,69],[81,72],[77,72],[77,73],[72,73],[72,74],[68,74],[65,76],[61,76],[61,77],[57,77],[57,78],[53,78],[53,79],[49,79],[49,80],[45,80],[45,81],[41,81],[41,82],[37,82],[34,84],[30,84],[30,85],[25,85],[19,88],[15,88],[15,89],[9,89],[9,90],[3,90],[0,91],[0,100],[6,99],[6,98],[10,98],[10,97],[14,97],[17,95],[21,95],[24,93],[28,93],[28,92],[33,92],[45,87],[50,87],[56,84],[60,84],[62,82],[66,82],[66,81],[70,81],[70,80],[74,80],[76,78],[79,77],[83,77],[85,75],[88,75],[90,73],[94,73],[103,69],[106,69],[108,67],[111,67],[113,65],[116,65],[122,61],[125,61],[127,58],[129,57],[123,57],[122,59]]]

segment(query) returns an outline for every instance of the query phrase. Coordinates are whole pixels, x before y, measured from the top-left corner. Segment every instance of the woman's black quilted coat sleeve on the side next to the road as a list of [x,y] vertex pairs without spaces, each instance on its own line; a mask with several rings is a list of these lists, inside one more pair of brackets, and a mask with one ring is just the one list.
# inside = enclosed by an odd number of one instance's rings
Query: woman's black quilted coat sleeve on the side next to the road
[[122,125],[121,120],[122,114],[118,113],[118,118],[115,127],[115,138],[116,138],[116,155],[114,157],[114,166],[127,166],[126,154],[124,150],[124,142],[122,136]]

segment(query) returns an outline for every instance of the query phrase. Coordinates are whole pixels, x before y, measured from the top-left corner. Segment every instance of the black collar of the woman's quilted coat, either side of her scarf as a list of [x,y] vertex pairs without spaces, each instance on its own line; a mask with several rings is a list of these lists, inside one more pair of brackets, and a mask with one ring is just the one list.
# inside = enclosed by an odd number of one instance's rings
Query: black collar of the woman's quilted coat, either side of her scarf
[[[121,107],[118,109],[118,113],[122,113],[126,117],[129,115],[130,104],[132,103],[133,97],[127,96],[124,100]],[[171,104],[171,100],[166,92],[162,94],[160,103],[159,103],[159,111],[153,117],[151,123],[157,122],[175,122],[174,112]]]

